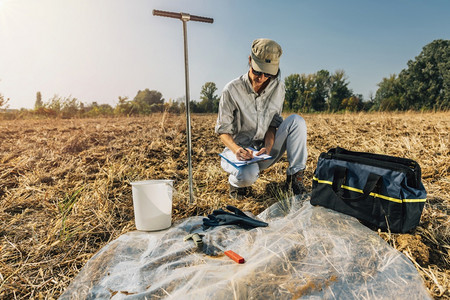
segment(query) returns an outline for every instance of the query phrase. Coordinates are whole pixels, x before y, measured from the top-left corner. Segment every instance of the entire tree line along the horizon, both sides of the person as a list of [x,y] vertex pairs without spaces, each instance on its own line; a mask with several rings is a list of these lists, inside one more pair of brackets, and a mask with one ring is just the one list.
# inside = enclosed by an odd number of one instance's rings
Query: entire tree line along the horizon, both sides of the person
[[[319,70],[313,74],[291,74],[284,78],[286,112],[338,112],[338,111],[405,111],[450,109],[450,40],[435,40],[407,63],[398,75],[383,78],[375,96],[365,100],[350,88],[343,70],[330,73]],[[217,113],[219,96],[214,82],[206,82],[199,101],[191,101],[194,113]],[[0,109],[7,107],[9,99],[0,94]],[[84,104],[73,97],[53,96],[42,101],[36,94],[33,110],[19,113],[50,117],[96,117],[147,115],[155,112],[185,112],[183,99],[166,101],[156,90],[138,91],[133,99],[119,97],[113,107],[92,102]]]

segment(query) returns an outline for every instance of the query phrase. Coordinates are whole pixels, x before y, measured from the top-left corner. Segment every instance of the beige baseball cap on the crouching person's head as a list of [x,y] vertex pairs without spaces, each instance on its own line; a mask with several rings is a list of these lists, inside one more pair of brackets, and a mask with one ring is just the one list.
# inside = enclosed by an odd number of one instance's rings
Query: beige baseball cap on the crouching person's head
[[270,39],[257,39],[252,43],[252,67],[258,72],[276,75],[280,65],[281,46]]

